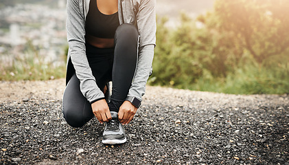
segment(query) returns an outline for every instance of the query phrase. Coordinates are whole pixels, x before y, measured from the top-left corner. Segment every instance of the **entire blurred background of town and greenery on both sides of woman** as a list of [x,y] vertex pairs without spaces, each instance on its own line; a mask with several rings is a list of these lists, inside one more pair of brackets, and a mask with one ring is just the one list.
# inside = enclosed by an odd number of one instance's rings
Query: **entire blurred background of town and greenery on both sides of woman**
[[[0,1],[0,80],[65,77],[66,0]],[[157,0],[148,83],[289,94],[288,0]]]

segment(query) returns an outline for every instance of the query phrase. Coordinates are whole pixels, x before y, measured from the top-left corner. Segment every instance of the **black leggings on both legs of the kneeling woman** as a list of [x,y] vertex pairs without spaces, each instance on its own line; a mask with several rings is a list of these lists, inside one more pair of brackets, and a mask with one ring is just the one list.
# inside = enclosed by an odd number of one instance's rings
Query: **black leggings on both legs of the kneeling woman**
[[[113,81],[113,94],[108,104],[110,111],[119,111],[135,74],[139,35],[134,25],[119,25],[115,32],[114,48],[97,48],[86,44],[86,56],[95,76],[97,86],[103,91]],[[80,80],[74,74],[63,94],[62,112],[73,127],[83,126],[93,118],[91,103],[80,91]]]

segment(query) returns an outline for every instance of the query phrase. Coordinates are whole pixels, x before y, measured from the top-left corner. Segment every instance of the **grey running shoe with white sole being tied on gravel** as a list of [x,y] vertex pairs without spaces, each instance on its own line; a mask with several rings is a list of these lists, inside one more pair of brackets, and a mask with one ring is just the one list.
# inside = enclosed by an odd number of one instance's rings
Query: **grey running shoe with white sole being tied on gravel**
[[122,144],[126,142],[124,127],[118,120],[117,112],[111,111],[112,120],[105,123],[104,133],[102,134],[103,144]]

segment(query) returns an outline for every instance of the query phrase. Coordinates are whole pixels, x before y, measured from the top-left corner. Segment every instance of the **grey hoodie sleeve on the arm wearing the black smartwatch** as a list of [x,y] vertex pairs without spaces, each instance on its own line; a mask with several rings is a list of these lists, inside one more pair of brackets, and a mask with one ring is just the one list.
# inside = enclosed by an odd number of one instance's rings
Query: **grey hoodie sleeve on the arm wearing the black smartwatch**
[[139,31],[139,58],[137,69],[128,96],[141,100],[145,94],[146,83],[152,72],[152,60],[156,45],[156,0],[141,0],[137,12],[137,27]]

